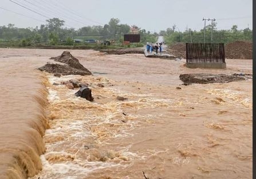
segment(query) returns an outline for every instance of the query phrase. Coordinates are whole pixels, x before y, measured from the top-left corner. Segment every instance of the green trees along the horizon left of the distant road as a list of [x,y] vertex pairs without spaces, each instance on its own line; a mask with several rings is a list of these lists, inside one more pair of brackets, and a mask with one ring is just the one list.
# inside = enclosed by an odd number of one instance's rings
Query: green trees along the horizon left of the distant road
[[[86,26],[80,29],[64,27],[65,21],[58,18],[47,19],[46,24],[40,27],[18,28],[9,23],[7,26],[0,26],[0,42],[18,42],[18,46],[31,46],[34,44],[66,44],[73,45],[74,39],[95,39],[95,40],[121,40],[123,34],[128,34],[130,26],[121,24],[117,18],[111,18],[104,26]],[[139,27],[137,27],[139,29]],[[141,42],[146,37],[155,41],[155,35],[139,29]],[[17,43],[15,43],[17,45]]]

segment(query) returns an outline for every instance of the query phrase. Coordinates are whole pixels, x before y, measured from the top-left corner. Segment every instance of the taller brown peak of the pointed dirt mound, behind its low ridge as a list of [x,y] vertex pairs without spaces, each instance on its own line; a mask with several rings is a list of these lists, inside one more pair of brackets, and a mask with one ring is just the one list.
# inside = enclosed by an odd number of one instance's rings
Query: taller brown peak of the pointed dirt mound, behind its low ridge
[[82,64],[79,63],[79,60],[77,58],[74,58],[74,56],[71,55],[69,51],[64,51],[60,56],[52,57],[50,59],[54,59],[54,61],[56,62],[68,64],[68,66],[76,68],[78,70],[88,71],[88,74],[92,75],[92,73],[87,68],[82,66]]

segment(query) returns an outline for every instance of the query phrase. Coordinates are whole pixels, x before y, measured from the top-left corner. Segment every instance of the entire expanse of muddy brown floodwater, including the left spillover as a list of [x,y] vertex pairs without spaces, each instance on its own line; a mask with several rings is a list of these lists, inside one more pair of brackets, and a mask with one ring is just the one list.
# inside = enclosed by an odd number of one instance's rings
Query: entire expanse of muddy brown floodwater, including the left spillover
[[[63,51],[0,49],[1,178],[252,178],[252,80],[179,79],[252,74],[252,60],[189,69],[184,59],[70,50],[93,76],[35,70]],[[88,83],[94,101],[52,86],[70,79]]]

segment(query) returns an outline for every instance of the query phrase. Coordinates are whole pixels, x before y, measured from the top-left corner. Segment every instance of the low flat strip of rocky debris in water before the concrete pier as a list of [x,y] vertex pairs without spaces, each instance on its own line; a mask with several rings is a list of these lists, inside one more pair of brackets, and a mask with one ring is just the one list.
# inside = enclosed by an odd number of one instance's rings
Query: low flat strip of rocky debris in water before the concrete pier
[[184,82],[184,84],[191,84],[191,83],[200,83],[200,84],[207,84],[207,83],[228,83],[228,82],[239,82],[245,80],[241,76],[235,75],[226,75],[226,74],[181,74],[179,76],[180,80]]

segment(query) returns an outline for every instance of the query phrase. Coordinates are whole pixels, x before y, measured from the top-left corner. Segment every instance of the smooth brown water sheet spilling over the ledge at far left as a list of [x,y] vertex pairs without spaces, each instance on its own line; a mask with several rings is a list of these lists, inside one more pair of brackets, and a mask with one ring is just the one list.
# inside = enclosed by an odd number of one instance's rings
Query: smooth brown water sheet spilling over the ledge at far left
[[2,61],[0,178],[32,177],[42,169],[40,155],[45,152],[48,80],[40,72],[21,68],[19,61],[10,60],[15,66]]

